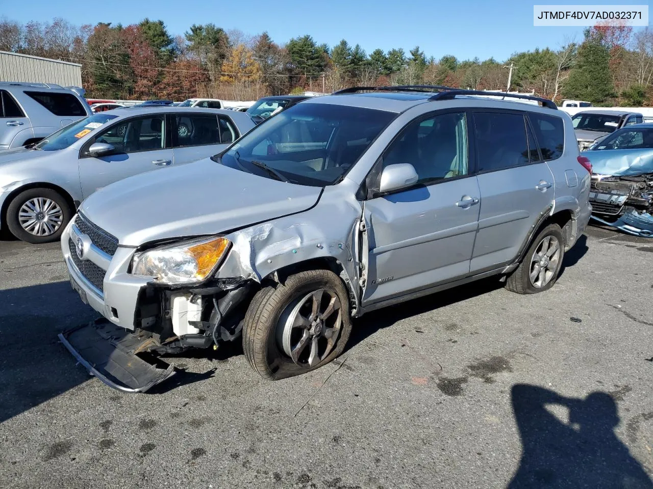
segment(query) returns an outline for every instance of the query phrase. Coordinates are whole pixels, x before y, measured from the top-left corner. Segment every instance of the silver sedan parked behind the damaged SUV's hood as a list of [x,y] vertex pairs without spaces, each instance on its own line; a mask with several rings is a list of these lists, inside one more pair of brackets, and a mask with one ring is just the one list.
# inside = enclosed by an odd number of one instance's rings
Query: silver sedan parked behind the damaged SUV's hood
[[249,129],[232,110],[121,108],[35,145],[0,151],[0,226],[28,243],[59,239],[82,200],[110,183],[215,155]]

